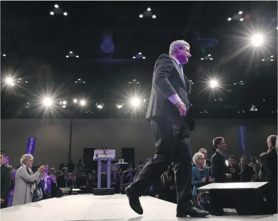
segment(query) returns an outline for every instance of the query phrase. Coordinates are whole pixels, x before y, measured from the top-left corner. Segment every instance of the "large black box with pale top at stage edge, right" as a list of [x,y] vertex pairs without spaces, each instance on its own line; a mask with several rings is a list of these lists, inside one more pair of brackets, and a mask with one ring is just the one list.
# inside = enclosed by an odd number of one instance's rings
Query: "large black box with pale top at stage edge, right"
[[210,208],[235,208],[238,214],[270,214],[273,204],[268,182],[210,183],[197,192]]

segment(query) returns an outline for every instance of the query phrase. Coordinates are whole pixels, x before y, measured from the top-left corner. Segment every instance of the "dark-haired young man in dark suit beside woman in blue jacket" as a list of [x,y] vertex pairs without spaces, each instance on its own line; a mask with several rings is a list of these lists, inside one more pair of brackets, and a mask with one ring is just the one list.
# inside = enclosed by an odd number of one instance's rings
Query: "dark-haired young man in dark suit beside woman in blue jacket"
[[216,137],[213,139],[212,143],[216,151],[211,157],[211,176],[214,182],[226,182],[232,175],[227,171],[226,161],[223,156],[223,152],[226,148],[224,138]]

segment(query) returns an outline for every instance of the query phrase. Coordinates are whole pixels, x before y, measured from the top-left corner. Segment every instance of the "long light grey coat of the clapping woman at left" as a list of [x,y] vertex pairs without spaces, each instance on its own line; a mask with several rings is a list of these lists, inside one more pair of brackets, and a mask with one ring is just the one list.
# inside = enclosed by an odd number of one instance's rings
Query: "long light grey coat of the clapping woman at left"
[[35,184],[32,184],[32,182],[36,181],[36,183],[38,183],[42,173],[36,171],[33,174],[30,168],[27,169],[30,171],[31,175],[28,174],[24,164],[16,170],[12,205],[32,202],[33,190],[35,188]]

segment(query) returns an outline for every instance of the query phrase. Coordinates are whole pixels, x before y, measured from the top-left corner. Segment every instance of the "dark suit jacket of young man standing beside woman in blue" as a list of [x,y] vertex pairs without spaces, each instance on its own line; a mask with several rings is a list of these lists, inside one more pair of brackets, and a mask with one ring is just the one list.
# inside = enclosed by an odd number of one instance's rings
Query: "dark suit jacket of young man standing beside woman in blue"
[[[214,178],[214,182],[225,182],[227,165],[225,158],[218,151],[211,157],[211,176]],[[228,172],[229,173],[229,172]]]

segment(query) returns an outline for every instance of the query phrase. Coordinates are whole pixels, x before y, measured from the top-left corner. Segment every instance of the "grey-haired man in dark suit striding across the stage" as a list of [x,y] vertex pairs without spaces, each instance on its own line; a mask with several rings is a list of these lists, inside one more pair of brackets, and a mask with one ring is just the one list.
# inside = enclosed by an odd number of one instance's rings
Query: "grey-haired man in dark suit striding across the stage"
[[191,201],[189,130],[193,128],[194,123],[189,108],[190,82],[183,74],[181,65],[187,63],[191,56],[189,47],[184,40],[173,41],[170,44],[169,55],[161,54],[154,65],[146,119],[150,120],[157,151],[136,180],[125,189],[130,207],[138,214],[143,213],[139,196],[174,161],[176,216],[208,215],[208,212],[195,208]]

